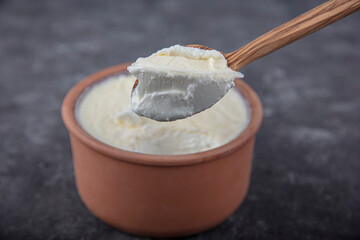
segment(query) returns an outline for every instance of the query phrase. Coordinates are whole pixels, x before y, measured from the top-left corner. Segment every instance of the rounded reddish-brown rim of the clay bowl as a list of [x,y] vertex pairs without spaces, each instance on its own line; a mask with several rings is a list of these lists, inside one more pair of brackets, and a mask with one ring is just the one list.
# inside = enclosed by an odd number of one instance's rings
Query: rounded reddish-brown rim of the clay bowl
[[181,155],[153,155],[119,149],[97,140],[96,138],[88,134],[85,130],[83,130],[77,122],[75,117],[77,100],[81,96],[81,94],[93,84],[105,80],[112,75],[127,72],[127,67],[130,64],[131,63],[115,65],[100,70],[86,77],[85,79],[77,83],[74,87],[72,87],[72,89],[67,93],[64,98],[61,107],[61,115],[66,128],[70,132],[71,136],[76,137],[78,140],[80,140],[83,144],[90,147],[91,149],[100,152],[108,157],[130,163],[150,166],[186,166],[204,163],[225,157],[241,148],[246,142],[248,142],[252,137],[254,137],[259,130],[263,118],[263,109],[260,99],[249,85],[247,85],[244,81],[240,79],[236,79],[235,88],[238,91],[241,91],[242,94],[246,95],[246,98],[250,104],[251,119],[248,126],[243,130],[243,132],[238,137],[225,145],[197,153]]

